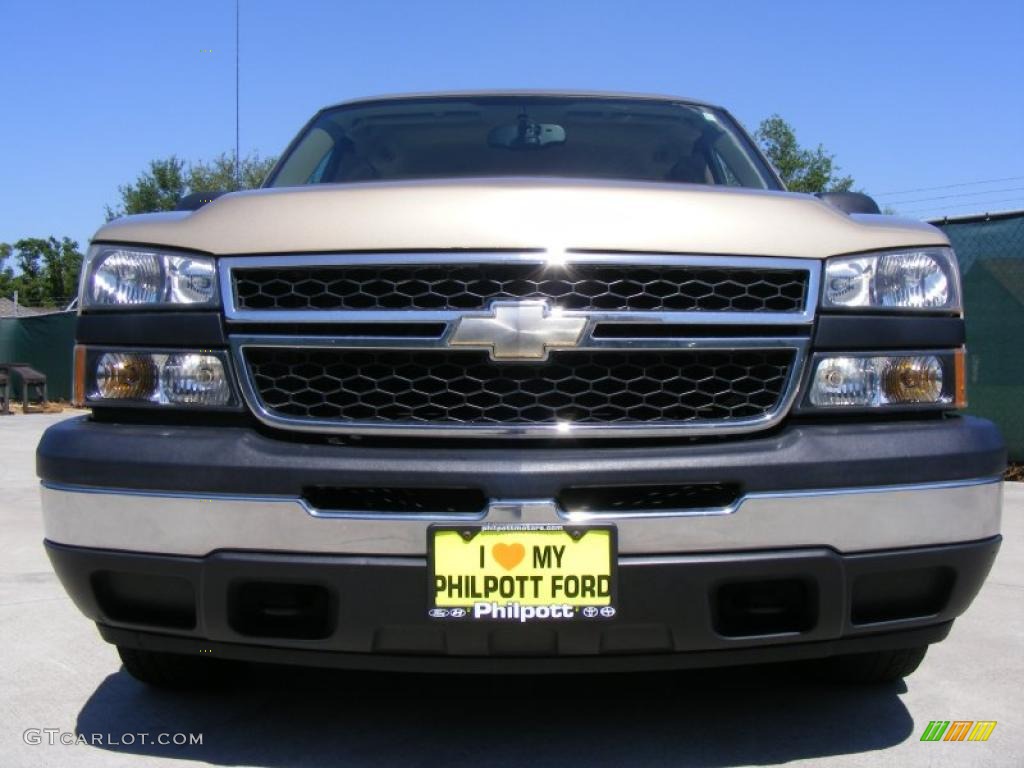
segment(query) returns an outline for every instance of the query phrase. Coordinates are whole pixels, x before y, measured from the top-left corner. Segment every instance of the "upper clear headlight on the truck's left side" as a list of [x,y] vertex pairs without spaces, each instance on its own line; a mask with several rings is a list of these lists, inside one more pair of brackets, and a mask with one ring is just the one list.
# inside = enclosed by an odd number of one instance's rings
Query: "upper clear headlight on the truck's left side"
[[92,246],[82,269],[80,306],[181,307],[217,304],[209,256],[128,246]]

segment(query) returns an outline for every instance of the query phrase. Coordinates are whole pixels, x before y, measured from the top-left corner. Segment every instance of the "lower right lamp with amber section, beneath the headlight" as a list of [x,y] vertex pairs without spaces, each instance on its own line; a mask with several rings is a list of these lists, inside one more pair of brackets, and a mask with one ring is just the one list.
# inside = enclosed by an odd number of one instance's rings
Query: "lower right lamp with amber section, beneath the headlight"
[[817,408],[962,407],[963,354],[822,355],[808,394]]

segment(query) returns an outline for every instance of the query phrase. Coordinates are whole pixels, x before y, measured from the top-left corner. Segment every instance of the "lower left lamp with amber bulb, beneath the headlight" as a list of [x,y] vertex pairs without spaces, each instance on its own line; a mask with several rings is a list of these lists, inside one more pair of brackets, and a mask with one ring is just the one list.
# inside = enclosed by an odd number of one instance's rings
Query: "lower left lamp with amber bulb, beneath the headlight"
[[234,409],[239,399],[223,352],[75,347],[75,401],[81,404]]

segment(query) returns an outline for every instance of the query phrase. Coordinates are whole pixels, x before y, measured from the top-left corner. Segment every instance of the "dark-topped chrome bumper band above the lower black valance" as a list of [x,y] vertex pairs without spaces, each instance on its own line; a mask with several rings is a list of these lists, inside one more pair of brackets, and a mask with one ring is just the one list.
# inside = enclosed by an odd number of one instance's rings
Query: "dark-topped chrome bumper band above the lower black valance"
[[[643,447],[354,447],[255,430],[63,422],[39,446],[49,541],[203,556],[224,549],[426,552],[438,521],[563,522],[560,487],[735,482],[720,509],[601,514],[623,555],[827,547],[841,553],[979,541],[999,531],[1005,453],[988,422],[794,426],[770,436]],[[479,513],[323,512],[330,484],[481,487]]]

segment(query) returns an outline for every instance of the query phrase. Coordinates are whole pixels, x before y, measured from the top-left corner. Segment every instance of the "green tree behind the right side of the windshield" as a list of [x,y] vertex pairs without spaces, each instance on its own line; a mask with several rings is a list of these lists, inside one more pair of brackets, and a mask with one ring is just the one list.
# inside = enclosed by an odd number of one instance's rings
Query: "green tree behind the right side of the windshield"
[[755,137],[791,191],[849,191],[853,186],[853,177],[839,175],[835,155],[821,144],[801,146],[793,126],[778,115],[762,120]]

